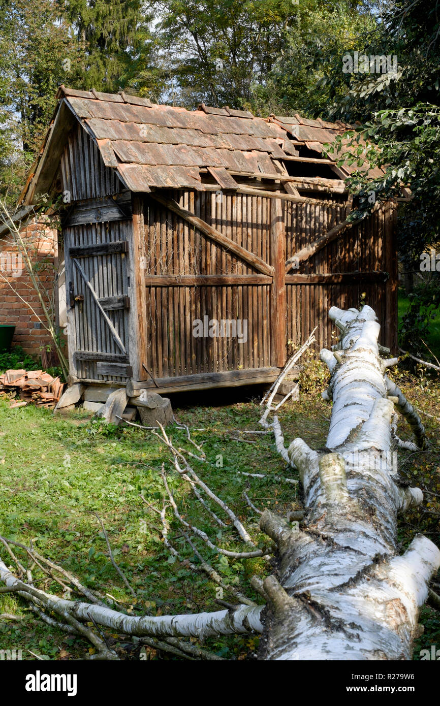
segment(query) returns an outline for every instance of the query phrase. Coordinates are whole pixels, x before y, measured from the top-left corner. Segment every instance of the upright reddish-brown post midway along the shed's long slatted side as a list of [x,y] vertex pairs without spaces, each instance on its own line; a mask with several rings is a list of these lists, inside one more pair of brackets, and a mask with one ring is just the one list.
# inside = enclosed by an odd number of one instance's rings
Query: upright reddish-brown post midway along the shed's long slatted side
[[286,361],[286,239],[284,202],[270,199],[270,264],[273,281],[270,287],[270,364],[282,368]]

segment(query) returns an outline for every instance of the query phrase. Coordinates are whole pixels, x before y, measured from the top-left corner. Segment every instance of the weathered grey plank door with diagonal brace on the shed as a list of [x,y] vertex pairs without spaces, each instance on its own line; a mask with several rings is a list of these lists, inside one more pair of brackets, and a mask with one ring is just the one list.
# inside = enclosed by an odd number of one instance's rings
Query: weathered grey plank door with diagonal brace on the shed
[[[113,212],[112,212],[113,213]],[[129,241],[131,220],[105,211],[64,223],[69,363],[78,379],[124,382],[131,377],[129,349]],[[90,217],[90,216],[89,216]],[[116,220],[119,217],[119,220]]]

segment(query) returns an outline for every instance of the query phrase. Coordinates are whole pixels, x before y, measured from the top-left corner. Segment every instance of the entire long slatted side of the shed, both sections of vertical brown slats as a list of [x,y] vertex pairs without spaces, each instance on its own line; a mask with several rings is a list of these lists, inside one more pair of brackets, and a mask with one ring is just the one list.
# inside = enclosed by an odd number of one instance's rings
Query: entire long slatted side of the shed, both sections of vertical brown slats
[[[212,192],[186,190],[176,191],[172,197],[269,265],[289,258],[346,217],[345,203],[297,204],[259,196],[223,193],[219,197]],[[275,223],[282,222],[285,244],[280,243],[281,231],[276,233],[271,213]],[[155,286],[154,276],[258,273],[148,196],[143,200],[143,219],[145,274],[150,282],[145,287],[145,358],[155,377],[282,366],[292,345],[304,342],[316,325],[316,351],[330,347],[335,335],[327,316],[331,306],[347,309],[365,302],[375,309],[383,332],[386,321],[388,327],[393,327],[386,312],[390,311],[388,301],[394,297],[394,289],[380,279],[356,275],[391,273],[393,224],[383,209],[360,225],[346,229],[300,270],[292,270],[304,275],[354,273],[350,281],[286,284],[285,292],[279,291],[280,280],[275,285],[246,286],[245,280],[240,280],[237,285],[225,286]],[[385,242],[391,243],[387,251]],[[277,287],[279,309],[274,299]],[[204,316],[218,321],[247,321],[248,340],[239,343],[227,337],[194,337],[194,321],[203,321]],[[390,334],[382,333],[384,344],[389,345],[389,338]],[[279,350],[274,357],[275,342]]]

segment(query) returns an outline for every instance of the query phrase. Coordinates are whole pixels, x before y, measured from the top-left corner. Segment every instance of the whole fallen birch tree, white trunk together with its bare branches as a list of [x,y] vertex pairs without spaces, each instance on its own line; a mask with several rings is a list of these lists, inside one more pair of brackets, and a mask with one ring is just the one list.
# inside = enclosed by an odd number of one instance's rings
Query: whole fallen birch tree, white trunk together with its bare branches
[[[89,621],[95,627],[136,635],[139,642],[179,659],[220,659],[182,638],[201,640],[212,635],[249,632],[262,633],[261,659],[411,659],[412,640],[418,633],[418,610],[427,598],[429,579],[440,566],[440,551],[429,539],[417,535],[405,554],[397,556],[396,515],[420,504],[422,491],[400,485],[392,451],[399,446],[422,447],[424,429],[415,409],[386,374],[397,359],[379,356],[380,326],[374,311],[369,306],[360,312],[332,307],[329,316],[340,329],[340,342],[334,352],[321,351],[321,359],[331,370],[325,398],[333,399],[326,449],[313,451],[299,438],[286,449],[278,417],[268,421],[283,376],[314,340],[313,336],[273,385],[261,417],[263,427],[273,432],[283,460],[298,469],[304,490],[303,512],[290,513],[287,519],[269,510],[260,513],[260,528],[273,540],[272,548],[257,546],[244,523],[189,464],[190,455],[202,465],[206,457],[187,427],[184,429],[191,452],[177,448],[163,427],[161,434],[152,431],[170,450],[180,481],[194,489],[196,498],[217,525],[223,521],[210,507],[216,506],[217,512],[230,520],[244,549],[231,551],[219,546],[179,513],[170,488],[170,474],[165,474],[162,466],[163,505],[149,507],[162,526],[165,546],[172,556],[183,561],[171,537],[167,517],[170,508],[177,520],[177,534],[184,537],[194,557],[184,560],[186,566],[208,575],[230,592],[238,605],[226,604],[225,609],[213,613],[179,616],[124,614],[107,606],[104,597],[44,558],[34,547],[1,538],[18,573],[14,575],[0,560],[0,580],[7,590],[33,604],[37,614],[49,624],[83,635],[96,648],[96,659],[118,657],[105,636],[97,635],[85,624]],[[386,353],[383,349],[382,352]],[[410,424],[415,443],[402,442],[396,436],[395,409]],[[280,475],[280,482],[287,480]],[[146,500],[145,503],[149,504]],[[253,505],[251,508],[259,512]],[[100,524],[109,556],[121,574],[101,521]],[[195,544],[197,540],[218,554],[239,561],[274,552],[277,561],[273,562],[270,575],[264,580],[254,576],[251,582],[264,603],[257,604],[236,585],[228,585],[203,559]],[[61,599],[37,588],[35,578],[29,580],[14,551],[24,552],[37,566],[49,567],[54,580],[64,589],[69,582],[71,590],[76,590],[83,600]],[[273,566],[277,568],[273,570]],[[122,578],[126,582],[124,575]],[[440,601],[432,592],[429,596]]]

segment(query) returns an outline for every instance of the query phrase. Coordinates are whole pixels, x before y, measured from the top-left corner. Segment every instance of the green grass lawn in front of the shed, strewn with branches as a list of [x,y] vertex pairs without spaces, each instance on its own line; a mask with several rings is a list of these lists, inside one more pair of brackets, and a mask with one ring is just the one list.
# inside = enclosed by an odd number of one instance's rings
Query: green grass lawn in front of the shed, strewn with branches
[[[403,373],[399,373],[403,375]],[[426,385],[408,377],[395,377],[413,403],[430,414],[439,415],[439,383]],[[228,396],[229,395],[229,396]],[[234,395],[234,397],[232,397]],[[212,395],[210,395],[212,397]],[[201,478],[246,520],[254,539],[267,546],[268,539],[258,532],[259,516],[243,496],[248,493],[257,508],[272,507],[285,514],[301,508],[297,486],[283,484],[270,474],[285,474],[285,464],[275,453],[273,438],[266,434],[246,434],[243,430],[261,429],[256,400],[243,391],[222,393],[218,406],[209,405],[204,395],[174,400],[179,421],[188,424],[194,440],[203,443],[207,461],[194,467]],[[321,400],[319,391],[303,394],[300,402],[291,402],[281,410],[280,421],[286,443],[302,436],[313,448],[324,445],[331,408]],[[401,549],[416,532],[424,532],[440,545],[440,446],[436,422],[429,417],[427,431],[432,444],[425,453],[406,454],[400,458],[405,480],[420,484],[429,493],[424,507],[407,513],[399,525]],[[169,479],[182,515],[205,530],[228,549],[243,549],[230,527],[213,524],[206,510],[195,500],[191,489],[172,471],[165,444],[149,431],[105,426],[78,409],[61,415],[49,410],[25,407],[9,409],[0,402],[0,533],[25,544],[32,542],[47,556],[76,574],[85,585],[107,594],[110,604],[132,614],[178,614],[189,611],[216,610],[218,586],[206,575],[195,575],[186,561],[178,561],[164,546],[160,520],[145,505],[162,508],[164,489],[160,467],[165,462]],[[191,449],[186,432],[169,428],[173,440]],[[408,428],[401,424],[402,438]],[[194,451],[194,448],[192,448]],[[240,472],[268,474],[265,479],[245,477]],[[295,477],[290,469],[287,474]],[[133,599],[109,561],[105,538],[100,530],[98,513],[109,534],[115,561],[136,592]],[[170,510],[170,537],[174,546],[189,561],[198,563],[185,544],[179,525]],[[0,545],[1,546],[1,545]],[[255,573],[270,571],[262,559],[237,561],[210,551],[203,543],[196,546],[227,584],[242,587],[252,599],[261,602],[249,585]],[[2,558],[5,552],[0,550]],[[25,554],[20,558],[25,562]],[[33,570],[37,585],[59,592],[48,576]],[[234,602],[225,591],[223,599]],[[27,604],[11,594],[0,595],[0,614],[14,614],[20,620],[0,618],[0,648],[22,649],[23,659],[83,658],[93,648],[74,635],[42,624]],[[420,649],[440,642],[439,614],[422,611],[425,633]],[[118,635],[109,637],[123,659],[138,659],[139,645],[128,644]],[[221,638],[207,640],[210,650],[226,659],[244,659],[255,654],[258,638]],[[148,659],[172,659],[148,649]],[[66,656],[67,654],[67,656]],[[417,649],[415,656],[417,658]]]

